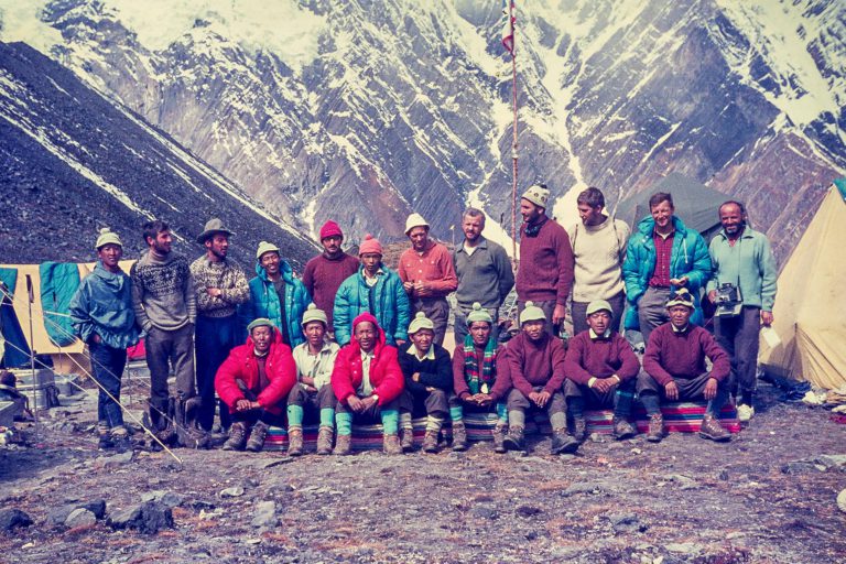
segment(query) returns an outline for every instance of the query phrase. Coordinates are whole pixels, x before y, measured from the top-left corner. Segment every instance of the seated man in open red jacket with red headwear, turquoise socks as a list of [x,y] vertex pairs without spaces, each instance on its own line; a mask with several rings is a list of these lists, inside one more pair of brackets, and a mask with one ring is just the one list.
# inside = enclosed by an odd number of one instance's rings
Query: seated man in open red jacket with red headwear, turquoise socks
[[355,417],[381,419],[386,454],[402,454],[398,436],[402,370],[397,349],[384,343],[384,333],[368,312],[352,321],[352,340],[338,352],[332,371],[332,389],[338,399],[336,455],[351,452]]

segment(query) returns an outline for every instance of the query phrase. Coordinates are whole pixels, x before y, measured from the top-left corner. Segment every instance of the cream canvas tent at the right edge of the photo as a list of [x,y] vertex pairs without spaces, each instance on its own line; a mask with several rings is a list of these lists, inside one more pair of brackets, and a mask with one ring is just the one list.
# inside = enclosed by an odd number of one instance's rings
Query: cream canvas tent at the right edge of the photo
[[764,371],[818,388],[846,384],[846,178],[834,181],[820,209],[779,275],[772,328],[761,338]]

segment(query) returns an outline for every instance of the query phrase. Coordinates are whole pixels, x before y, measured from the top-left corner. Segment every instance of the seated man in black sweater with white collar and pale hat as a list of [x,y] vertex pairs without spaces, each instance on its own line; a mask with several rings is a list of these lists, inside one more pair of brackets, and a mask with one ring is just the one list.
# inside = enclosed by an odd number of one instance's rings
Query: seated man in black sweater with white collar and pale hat
[[[409,343],[400,346],[399,360],[405,379],[405,391],[400,401],[402,449],[414,448],[411,414],[426,412],[426,435],[423,452],[436,453],[441,426],[449,413],[453,394],[453,367],[449,352],[434,343],[435,324],[424,312],[417,312],[409,325]],[[416,408],[416,409],[415,409]]]

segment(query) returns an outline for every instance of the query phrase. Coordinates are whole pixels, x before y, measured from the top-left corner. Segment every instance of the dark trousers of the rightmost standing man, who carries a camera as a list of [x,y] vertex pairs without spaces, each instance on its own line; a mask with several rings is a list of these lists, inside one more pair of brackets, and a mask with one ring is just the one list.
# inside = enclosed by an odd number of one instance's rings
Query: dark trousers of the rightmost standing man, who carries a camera
[[734,317],[714,316],[714,336],[731,358],[731,390],[751,393],[758,370],[761,308],[745,305]]

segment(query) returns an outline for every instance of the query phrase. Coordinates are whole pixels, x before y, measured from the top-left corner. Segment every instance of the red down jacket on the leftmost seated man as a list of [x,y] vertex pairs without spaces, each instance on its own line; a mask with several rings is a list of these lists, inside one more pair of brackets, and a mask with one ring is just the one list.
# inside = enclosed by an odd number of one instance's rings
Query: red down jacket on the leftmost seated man
[[217,369],[215,391],[232,412],[238,400],[248,399],[236,382],[241,380],[247,389],[257,395],[256,401],[264,410],[281,415],[282,402],[296,383],[296,364],[291,355],[291,347],[282,343],[282,334],[274,327],[273,341],[270,344],[268,360],[264,364],[270,386],[263,390],[260,388],[259,365],[253,349],[252,338],[247,337],[246,344],[235,347],[229,352],[229,357]]

